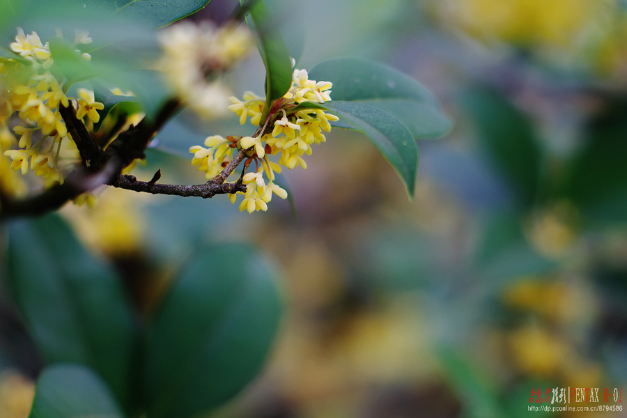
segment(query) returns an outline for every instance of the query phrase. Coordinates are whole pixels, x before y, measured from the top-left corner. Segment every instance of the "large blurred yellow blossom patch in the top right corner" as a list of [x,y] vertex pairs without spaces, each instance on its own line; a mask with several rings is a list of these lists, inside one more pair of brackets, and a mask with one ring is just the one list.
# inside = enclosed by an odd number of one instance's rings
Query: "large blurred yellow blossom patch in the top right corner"
[[456,32],[488,45],[523,47],[558,65],[624,83],[627,9],[622,0],[432,0]]

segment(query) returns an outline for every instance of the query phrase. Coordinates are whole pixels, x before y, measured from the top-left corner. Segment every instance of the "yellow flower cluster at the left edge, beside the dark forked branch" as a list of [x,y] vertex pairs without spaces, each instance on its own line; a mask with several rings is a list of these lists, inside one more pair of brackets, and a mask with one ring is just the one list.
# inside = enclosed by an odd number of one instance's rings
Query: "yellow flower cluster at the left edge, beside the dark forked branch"
[[[87,42],[91,38],[77,33],[77,43]],[[49,44],[36,32],[26,35],[18,28],[10,49],[15,57],[0,58],[0,155],[10,158],[10,168],[22,175],[33,171],[47,183],[62,183],[60,160],[67,157],[73,164],[78,153],[71,140],[65,141],[71,137],[59,107],[68,107],[72,100],[77,118],[91,125],[99,121],[104,104],[85,88],[79,88],[78,98],[66,95],[65,81],[50,71],[54,61]],[[91,59],[89,54],[83,57]],[[6,170],[5,165],[0,162],[0,170]]]

